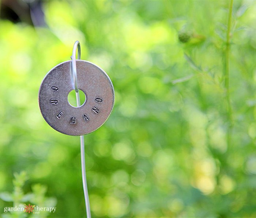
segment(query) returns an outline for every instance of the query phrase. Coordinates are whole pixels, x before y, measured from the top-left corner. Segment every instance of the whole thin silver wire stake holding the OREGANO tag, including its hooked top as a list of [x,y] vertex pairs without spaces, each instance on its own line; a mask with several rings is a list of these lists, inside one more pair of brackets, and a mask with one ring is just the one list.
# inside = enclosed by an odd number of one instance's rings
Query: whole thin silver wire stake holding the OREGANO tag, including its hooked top
[[[81,49],[79,41],[76,41],[73,48],[72,53],[72,70],[71,70],[71,78],[73,82],[74,89],[76,91],[76,105],[80,106],[80,96],[79,89],[77,85],[77,74],[76,74],[76,48],[78,48],[78,59],[81,58]],[[83,180],[83,192],[84,192],[84,200],[86,207],[86,216],[87,218],[91,218],[91,209],[89,202],[89,194],[86,182],[86,170],[85,170],[85,152],[84,152],[84,136],[80,136],[80,149],[81,149],[81,166],[82,166],[82,180]]]

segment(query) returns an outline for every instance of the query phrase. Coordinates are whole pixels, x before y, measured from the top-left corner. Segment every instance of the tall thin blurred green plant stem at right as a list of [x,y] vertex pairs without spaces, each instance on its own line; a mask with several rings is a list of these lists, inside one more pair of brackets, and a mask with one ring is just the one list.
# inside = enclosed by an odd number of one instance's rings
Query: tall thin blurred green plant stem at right
[[233,0],[230,0],[229,4],[229,17],[227,21],[227,38],[226,38],[226,48],[224,55],[224,81],[225,81],[225,91],[226,91],[226,108],[227,108],[227,148],[230,148],[231,143],[231,132],[233,128],[233,115],[230,103],[230,88],[229,88],[229,57],[230,57],[230,30],[231,30],[231,19],[232,19],[232,9]]

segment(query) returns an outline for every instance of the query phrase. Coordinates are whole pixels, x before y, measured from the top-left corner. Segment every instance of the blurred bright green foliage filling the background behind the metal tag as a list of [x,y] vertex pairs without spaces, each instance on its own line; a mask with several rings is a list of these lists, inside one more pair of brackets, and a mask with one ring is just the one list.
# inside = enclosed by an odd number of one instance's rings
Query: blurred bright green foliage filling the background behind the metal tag
[[79,137],[54,131],[37,103],[79,40],[116,92],[85,136],[93,217],[256,217],[255,1],[233,5],[232,116],[230,1],[43,3],[48,27],[0,20],[0,191],[26,171],[25,193],[41,183],[57,199],[50,217],[85,216]]

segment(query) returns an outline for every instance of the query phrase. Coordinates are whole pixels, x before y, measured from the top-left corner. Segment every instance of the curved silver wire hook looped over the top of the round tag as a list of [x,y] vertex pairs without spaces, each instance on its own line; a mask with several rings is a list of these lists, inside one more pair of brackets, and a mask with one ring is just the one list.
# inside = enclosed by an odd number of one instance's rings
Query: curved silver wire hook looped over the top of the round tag
[[77,73],[76,73],[76,48],[78,48],[78,54],[77,54],[77,59],[80,60],[81,59],[81,47],[80,47],[80,42],[76,41],[73,47],[73,52],[72,52],[72,62],[71,62],[71,81],[72,81],[72,85],[73,88],[75,89],[76,92],[79,91],[78,89],[78,85],[77,85]]

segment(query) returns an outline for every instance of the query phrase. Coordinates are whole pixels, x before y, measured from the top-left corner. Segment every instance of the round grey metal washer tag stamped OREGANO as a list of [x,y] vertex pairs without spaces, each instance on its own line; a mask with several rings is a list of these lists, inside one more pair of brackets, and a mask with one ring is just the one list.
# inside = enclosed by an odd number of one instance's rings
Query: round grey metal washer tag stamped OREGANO
[[114,87],[108,75],[88,61],[76,60],[78,89],[86,96],[79,107],[68,102],[74,90],[71,61],[60,63],[45,76],[39,89],[42,116],[53,129],[71,136],[86,135],[108,119],[114,106]]

